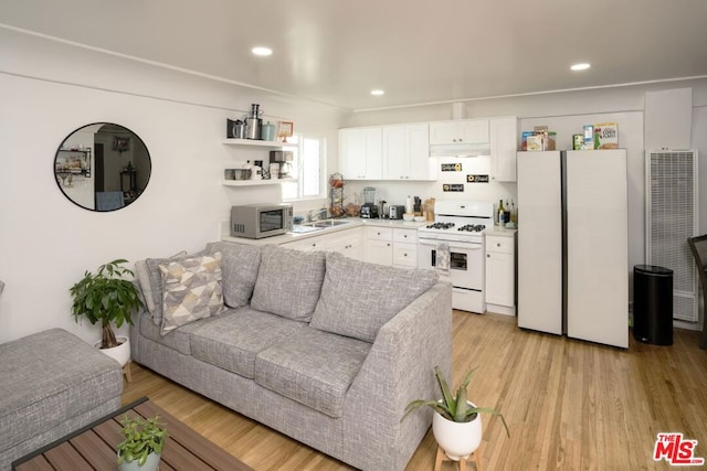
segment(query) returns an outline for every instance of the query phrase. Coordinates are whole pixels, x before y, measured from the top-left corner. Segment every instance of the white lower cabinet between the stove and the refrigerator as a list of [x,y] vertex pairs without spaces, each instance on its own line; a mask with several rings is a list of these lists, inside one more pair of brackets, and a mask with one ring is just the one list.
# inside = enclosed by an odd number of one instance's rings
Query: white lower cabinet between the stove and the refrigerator
[[486,236],[486,310],[516,314],[515,232]]

